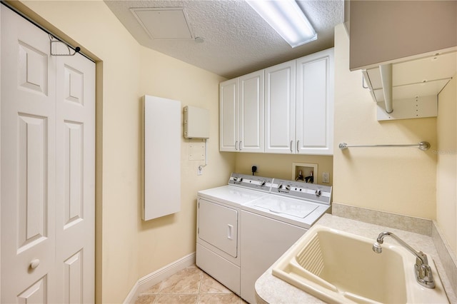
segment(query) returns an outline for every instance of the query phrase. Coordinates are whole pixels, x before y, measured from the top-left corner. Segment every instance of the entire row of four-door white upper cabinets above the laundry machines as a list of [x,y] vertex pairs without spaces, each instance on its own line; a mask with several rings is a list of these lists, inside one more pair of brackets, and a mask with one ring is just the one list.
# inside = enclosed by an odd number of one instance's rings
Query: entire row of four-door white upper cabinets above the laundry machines
[[332,155],[333,75],[328,49],[222,82],[220,151]]

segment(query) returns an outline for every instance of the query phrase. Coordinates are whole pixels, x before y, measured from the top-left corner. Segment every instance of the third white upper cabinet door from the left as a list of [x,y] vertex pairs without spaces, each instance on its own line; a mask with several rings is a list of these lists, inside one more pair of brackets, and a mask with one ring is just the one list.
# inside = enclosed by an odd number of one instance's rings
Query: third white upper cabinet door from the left
[[295,153],[295,60],[265,69],[265,152]]

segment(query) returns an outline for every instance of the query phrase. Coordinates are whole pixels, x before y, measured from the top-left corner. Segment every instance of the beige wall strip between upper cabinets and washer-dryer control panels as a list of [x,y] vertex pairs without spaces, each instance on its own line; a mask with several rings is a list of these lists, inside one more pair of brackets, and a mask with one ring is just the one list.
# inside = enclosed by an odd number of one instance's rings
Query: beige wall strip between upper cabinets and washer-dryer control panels
[[[330,183],[333,182],[333,156],[300,156],[286,154],[262,154],[262,153],[235,153],[235,172],[252,174],[251,167],[256,165],[257,176],[273,178],[292,178],[293,163],[317,163],[318,176],[314,176],[314,183],[322,183],[322,173],[330,173]],[[324,184],[325,185],[325,184]]]

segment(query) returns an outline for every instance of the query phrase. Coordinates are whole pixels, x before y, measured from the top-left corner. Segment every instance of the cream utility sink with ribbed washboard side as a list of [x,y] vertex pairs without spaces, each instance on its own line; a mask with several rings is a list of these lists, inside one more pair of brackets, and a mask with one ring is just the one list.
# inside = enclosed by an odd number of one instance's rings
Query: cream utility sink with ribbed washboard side
[[374,253],[375,241],[316,225],[273,265],[273,275],[329,303],[449,303],[430,255],[433,289],[416,282],[413,254],[387,243]]

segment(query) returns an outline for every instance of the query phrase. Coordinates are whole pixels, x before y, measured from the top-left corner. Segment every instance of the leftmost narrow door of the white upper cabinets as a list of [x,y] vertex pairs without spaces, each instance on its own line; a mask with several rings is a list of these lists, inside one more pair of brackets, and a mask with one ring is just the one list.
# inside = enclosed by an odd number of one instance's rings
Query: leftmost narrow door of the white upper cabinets
[[238,151],[238,78],[219,84],[219,151]]

